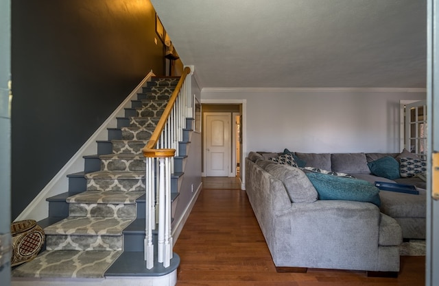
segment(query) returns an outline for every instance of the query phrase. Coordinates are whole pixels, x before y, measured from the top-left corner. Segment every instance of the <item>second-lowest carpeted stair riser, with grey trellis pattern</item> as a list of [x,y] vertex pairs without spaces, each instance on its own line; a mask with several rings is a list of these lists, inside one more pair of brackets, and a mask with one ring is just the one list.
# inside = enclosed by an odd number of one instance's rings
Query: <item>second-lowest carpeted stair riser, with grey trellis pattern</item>
[[69,216],[135,218],[136,205],[70,203]]

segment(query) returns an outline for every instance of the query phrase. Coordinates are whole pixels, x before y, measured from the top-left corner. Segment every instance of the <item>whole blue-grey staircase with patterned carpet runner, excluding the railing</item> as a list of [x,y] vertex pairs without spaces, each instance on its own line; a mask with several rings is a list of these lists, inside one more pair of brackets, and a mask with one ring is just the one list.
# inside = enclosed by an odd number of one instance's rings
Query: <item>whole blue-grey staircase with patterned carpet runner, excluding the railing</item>
[[[152,269],[145,268],[146,165],[142,149],[178,79],[153,77],[147,82],[137,100],[132,101],[132,108],[125,110],[126,116],[117,118],[117,128],[108,129],[108,141],[97,142],[98,154],[84,157],[84,172],[68,176],[69,192],[47,199],[49,218],[38,222],[44,227],[45,250],[12,270],[12,285],[19,285],[19,277],[157,278],[176,273],[180,259],[175,253],[168,268],[156,261]],[[178,143],[180,154],[174,157],[171,175],[173,211],[189,143],[190,119],[186,125],[189,129]],[[156,235],[153,240],[156,242]]]

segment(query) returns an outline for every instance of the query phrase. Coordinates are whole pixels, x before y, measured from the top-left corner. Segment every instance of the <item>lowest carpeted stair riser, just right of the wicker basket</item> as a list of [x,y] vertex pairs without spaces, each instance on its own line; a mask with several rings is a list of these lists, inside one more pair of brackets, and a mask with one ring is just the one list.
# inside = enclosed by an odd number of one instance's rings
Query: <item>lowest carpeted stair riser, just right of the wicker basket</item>
[[122,235],[46,235],[46,250],[122,250]]

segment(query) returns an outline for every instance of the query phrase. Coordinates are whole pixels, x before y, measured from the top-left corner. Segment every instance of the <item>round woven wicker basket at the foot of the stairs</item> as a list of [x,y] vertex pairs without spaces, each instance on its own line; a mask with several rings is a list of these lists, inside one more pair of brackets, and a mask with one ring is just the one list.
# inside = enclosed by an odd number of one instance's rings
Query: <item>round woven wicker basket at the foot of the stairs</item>
[[11,224],[11,266],[31,261],[38,255],[45,241],[43,229],[35,220],[21,220]]

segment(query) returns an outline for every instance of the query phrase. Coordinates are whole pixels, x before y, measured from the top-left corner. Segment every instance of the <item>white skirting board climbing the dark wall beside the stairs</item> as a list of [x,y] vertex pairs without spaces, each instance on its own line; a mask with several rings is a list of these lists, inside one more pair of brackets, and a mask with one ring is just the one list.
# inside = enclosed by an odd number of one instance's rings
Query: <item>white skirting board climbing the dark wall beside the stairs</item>
[[137,99],[137,93],[140,92],[141,88],[145,86],[145,83],[150,81],[153,76],[154,73],[152,73],[151,70],[14,221],[30,219],[38,221],[47,218],[49,213],[49,203],[47,203],[46,198],[62,194],[69,190],[69,179],[67,178],[67,175],[84,170],[83,157],[85,155],[93,155],[97,153],[96,141],[108,140],[107,128],[117,127],[117,117],[125,116],[124,108],[131,107],[131,101]]

